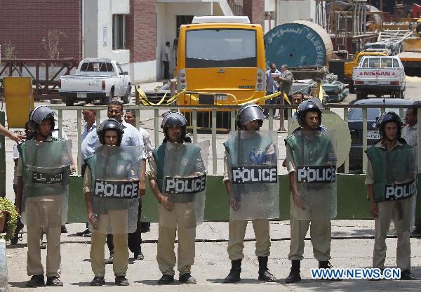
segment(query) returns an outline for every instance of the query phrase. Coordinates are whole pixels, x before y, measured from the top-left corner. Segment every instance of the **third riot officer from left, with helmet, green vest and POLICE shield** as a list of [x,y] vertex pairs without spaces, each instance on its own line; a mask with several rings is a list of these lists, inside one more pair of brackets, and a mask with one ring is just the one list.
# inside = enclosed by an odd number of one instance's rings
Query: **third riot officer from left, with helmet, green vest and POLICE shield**
[[[165,138],[149,157],[149,184],[159,202],[159,234],[156,260],[162,277],[158,284],[174,281],[175,235],[178,234],[179,281],[195,284],[191,274],[195,256],[196,225],[203,221],[206,184],[206,147],[186,136],[187,121],[179,112],[163,114]],[[206,146],[207,145],[207,146]],[[203,154],[201,150],[203,149]],[[197,190],[183,185],[199,181]],[[174,185],[178,182],[178,190]],[[191,188],[192,189],[192,188]]]

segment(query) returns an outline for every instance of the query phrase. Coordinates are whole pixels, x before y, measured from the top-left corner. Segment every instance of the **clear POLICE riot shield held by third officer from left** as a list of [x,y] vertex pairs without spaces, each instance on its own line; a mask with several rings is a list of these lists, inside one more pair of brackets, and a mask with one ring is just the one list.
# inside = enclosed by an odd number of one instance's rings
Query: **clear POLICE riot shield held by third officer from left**
[[192,228],[203,222],[208,152],[208,140],[166,143],[161,193],[168,198],[170,208],[159,206],[162,227]]

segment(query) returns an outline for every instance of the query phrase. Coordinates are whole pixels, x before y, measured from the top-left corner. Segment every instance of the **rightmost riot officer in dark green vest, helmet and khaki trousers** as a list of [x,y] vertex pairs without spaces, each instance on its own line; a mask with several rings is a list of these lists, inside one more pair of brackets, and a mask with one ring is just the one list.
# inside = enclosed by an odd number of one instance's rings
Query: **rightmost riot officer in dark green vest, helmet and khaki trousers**
[[410,273],[410,227],[413,226],[417,192],[416,150],[401,138],[402,121],[387,112],[377,121],[380,140],[366,150],[366,186],[370,213],[375,218],[373,267],[385,269],[386,236],[393,220],[398,237],[396,263],[402,280],[415,279]]

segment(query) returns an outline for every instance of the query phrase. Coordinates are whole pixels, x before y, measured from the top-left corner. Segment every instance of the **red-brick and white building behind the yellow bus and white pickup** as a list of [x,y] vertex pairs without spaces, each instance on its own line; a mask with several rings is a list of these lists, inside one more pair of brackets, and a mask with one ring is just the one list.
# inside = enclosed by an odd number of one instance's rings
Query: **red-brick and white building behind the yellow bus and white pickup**
[[[178,29],[195,15],[246,15],[265,31],[274,25],[276,0],[33,0],[4,1],[0,9],[1,58],[50,58],[42,43],[58,36],[58,58],[110,58],[133,84],[161,79],[162,51],[171,43],[175,67]],[[269,11],[268,11],[269,10]],[[45,44],[45,43],[44,43]],[[5,46],[6,45],[6,46]]]

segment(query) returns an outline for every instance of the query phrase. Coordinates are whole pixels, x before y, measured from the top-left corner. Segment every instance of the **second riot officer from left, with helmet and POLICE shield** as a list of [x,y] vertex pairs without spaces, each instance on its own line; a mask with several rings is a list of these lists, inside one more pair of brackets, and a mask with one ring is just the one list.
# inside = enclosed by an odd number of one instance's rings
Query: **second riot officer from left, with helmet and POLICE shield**
[[140,192],[142,146],[122,146],[123,126],[115,119],[103,121],[98,128],[102,145],[85,159],[88,166],[83,180],[88,221],[92,232],[91,286],[105,284],[104,247],[107,234],[113,234],[115,283],[128,286],[127,234],[134,232]]

